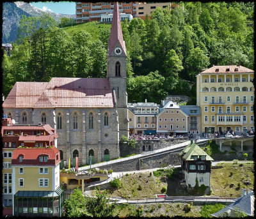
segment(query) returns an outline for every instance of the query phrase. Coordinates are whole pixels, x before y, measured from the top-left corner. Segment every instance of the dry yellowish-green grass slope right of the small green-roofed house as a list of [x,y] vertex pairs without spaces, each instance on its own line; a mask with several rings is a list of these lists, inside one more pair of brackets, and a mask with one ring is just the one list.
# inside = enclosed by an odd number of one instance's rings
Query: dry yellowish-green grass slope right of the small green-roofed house
[[[211,170],[212,195],[237,198],[241,196],[242,188],[253,189],[254,164],[243,163],[243,166],[239,166],[239,163],[220,163],[218,166],[223,168]],[[244,181],[249,181],[251,185],[244,185]],[[231,183],[234,183],[232,188]]]

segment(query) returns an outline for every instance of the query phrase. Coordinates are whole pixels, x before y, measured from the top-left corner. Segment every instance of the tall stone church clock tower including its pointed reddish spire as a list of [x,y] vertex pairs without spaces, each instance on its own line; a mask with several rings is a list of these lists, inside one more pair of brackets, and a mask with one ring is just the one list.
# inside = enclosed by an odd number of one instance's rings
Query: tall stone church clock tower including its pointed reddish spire
[[119,136],[129,136],[126,92],[126,49],[120,22],[118,2],[114,3],[113,20],[108,42],[107,75],[111,89],[115,90],[119,121]]

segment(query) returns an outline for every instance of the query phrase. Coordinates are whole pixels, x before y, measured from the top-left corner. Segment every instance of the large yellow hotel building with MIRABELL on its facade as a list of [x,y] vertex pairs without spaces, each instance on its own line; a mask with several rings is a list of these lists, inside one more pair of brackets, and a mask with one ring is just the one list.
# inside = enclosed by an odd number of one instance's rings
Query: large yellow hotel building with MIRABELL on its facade
[[239,65],[212,66],[196,75],[196,105],[202,132],[254,130],[253,70]]

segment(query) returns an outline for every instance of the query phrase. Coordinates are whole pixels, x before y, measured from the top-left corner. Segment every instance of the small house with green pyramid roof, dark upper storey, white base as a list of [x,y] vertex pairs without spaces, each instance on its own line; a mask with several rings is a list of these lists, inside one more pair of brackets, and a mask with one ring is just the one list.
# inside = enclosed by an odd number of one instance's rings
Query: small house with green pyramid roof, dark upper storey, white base
[[191,143],[179,155],[181,157],[181,167],[187,188],[195,187],[197,177],[198,186],[208,186],[205,192],[209,191],[211,161],[213,160],[211,156],[207,155],[193,140],[191,140]]

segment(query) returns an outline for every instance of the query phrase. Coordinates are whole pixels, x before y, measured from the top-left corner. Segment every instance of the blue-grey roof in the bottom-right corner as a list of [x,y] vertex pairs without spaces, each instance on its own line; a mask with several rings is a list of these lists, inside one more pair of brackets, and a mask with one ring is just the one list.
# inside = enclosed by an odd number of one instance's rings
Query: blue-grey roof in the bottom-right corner
[[221,209],[220,211],[212,214],[211,216],[215,217],[223,217],[223,214],[228,211],[228,209],[232,209],[234,211],[239,211],[241,213],[245,213],[246,215],[253,216],[254,212],[254,193],[249,193],[247,195],[243,195],[239,197],[236,202],[230,204],[226,208]]

